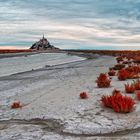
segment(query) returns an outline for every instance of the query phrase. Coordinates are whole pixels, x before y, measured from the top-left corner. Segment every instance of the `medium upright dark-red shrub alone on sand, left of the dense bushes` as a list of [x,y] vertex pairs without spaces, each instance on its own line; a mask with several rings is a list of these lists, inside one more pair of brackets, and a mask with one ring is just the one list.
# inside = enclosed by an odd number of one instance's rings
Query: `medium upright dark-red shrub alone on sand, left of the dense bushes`
[[99,88],[110,87],[111,80],[107,77],[106,74],[101,73],[99,77],[97,77],[96,83]]

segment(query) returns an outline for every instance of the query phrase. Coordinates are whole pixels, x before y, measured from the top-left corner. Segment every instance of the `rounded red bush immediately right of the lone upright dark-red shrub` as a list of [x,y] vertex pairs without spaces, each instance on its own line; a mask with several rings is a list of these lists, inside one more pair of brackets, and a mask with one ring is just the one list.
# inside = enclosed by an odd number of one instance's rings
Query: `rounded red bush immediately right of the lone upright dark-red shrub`
[[118,79],[120,81],[126,80],[129,78],[129,72],[125,69],[119,70],[118,72]]

